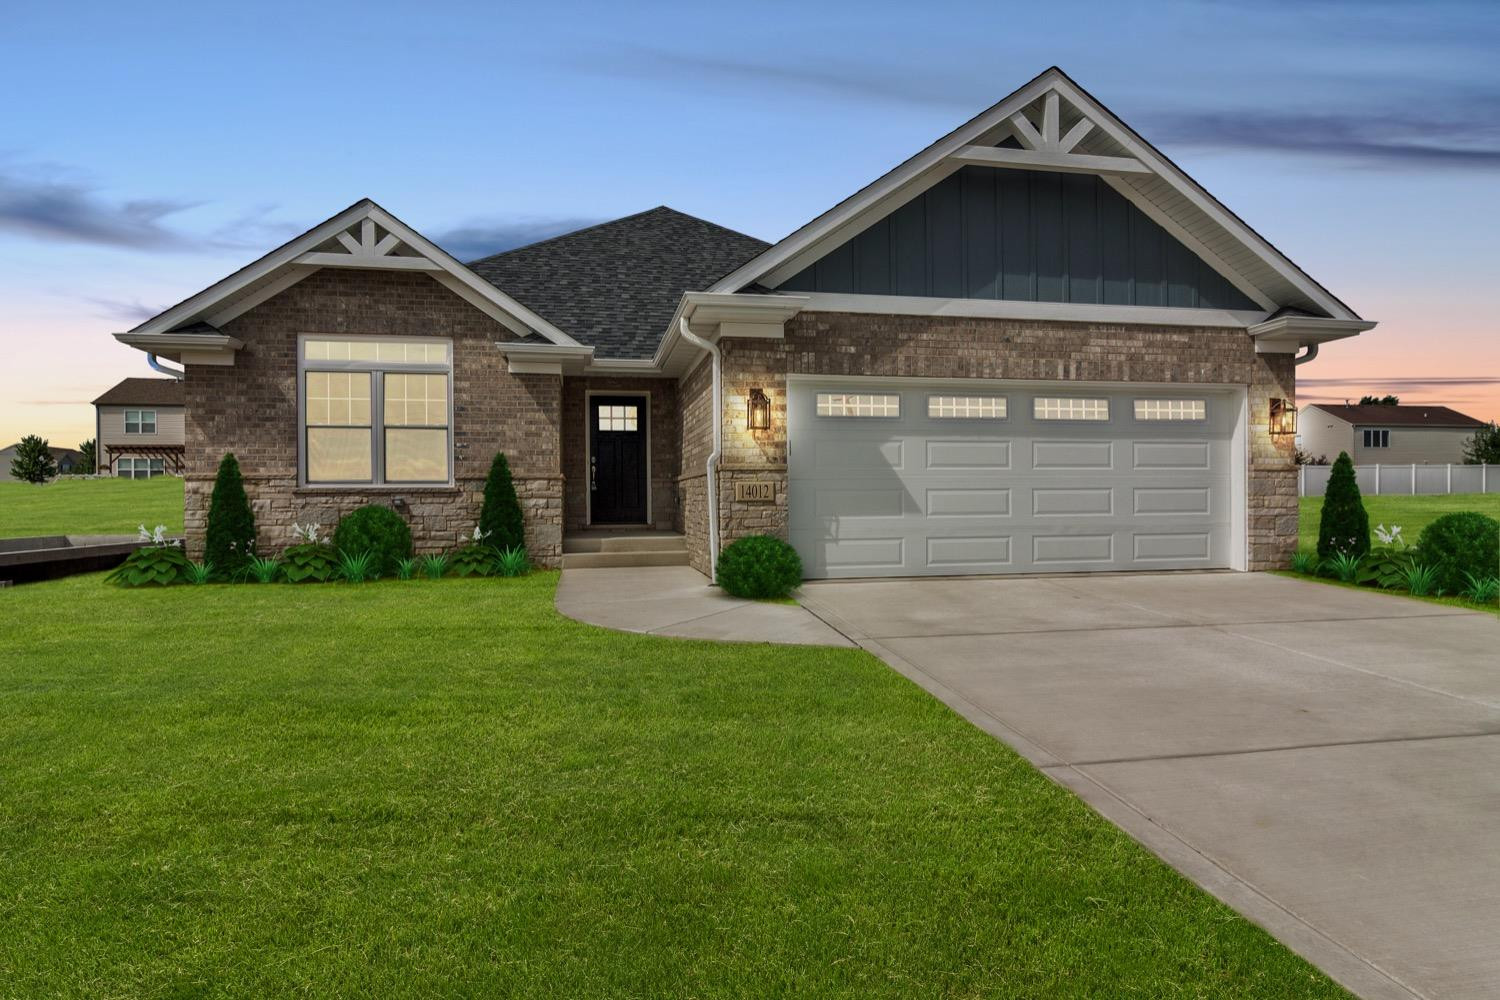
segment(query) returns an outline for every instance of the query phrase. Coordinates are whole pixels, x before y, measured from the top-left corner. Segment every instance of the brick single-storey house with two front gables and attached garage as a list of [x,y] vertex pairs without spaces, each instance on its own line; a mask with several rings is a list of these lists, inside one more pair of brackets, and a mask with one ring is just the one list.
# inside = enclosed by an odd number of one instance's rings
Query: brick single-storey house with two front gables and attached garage
[[663,207],[465,265],[364,199],[116,336],[186,369],[190,549],[226,451],[262,546],[378,502],[424,550],[504,451],[543,565],[858,577],[1278,565],[1296,363],[1372,325],[1048,69],[774,244]]

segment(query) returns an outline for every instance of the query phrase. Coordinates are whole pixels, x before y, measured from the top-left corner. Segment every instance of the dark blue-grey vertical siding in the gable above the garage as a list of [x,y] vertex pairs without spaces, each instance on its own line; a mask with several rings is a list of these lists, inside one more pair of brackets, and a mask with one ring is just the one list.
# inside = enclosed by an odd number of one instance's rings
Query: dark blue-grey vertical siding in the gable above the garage
[[1257,309],[1098,177],[964,166],[782,288]]

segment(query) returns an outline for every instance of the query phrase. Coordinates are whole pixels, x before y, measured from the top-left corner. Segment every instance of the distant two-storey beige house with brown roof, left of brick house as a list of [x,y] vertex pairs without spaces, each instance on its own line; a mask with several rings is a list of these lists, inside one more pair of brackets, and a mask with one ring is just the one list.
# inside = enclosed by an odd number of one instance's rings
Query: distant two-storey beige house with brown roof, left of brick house
[[93,402],[100,475],[182,475],[186,393],[176,378],[128,378]]

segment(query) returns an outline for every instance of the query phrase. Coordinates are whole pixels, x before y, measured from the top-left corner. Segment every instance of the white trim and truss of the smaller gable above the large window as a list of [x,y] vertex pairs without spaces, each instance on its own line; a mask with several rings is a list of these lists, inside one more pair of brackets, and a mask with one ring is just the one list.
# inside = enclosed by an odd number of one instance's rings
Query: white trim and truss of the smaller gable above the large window
[[[388,234],[380,241],[375,240],[376,226]],[[352,235],[352,229],[358,231],[358,237]],[[330,241],[338,241],[345,252],[320,249]],[[578,340],[464,267],[442,247],[368,198],[147,319],[130,333],[168,333],[198,321],[222,325],[322,267],[418,270],[518,336],[536,331],[552,343],[579,346]]]

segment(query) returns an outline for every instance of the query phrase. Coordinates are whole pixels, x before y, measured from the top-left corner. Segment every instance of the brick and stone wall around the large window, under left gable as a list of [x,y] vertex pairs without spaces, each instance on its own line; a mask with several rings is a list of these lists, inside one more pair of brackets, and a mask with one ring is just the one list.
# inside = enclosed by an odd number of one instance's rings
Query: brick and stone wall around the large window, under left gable
[[[186,534],[201,552],[213,475],[225,451],[244,474],[258,547],[292,543],[292,522],[332,529],[362,504],[405,502],[418,552],[452,549],[478,517],[484,474],[504,451],[526,514],[526,549],[542,565],[562,552],[561,378],[510,375],[495,349],[512,333],[428,274],[324,268],[236,318],[244,342],[232,367],[190,364],[186,427]],[[297,334],[450,337],[454,486],[308,489],[297,486]]]

